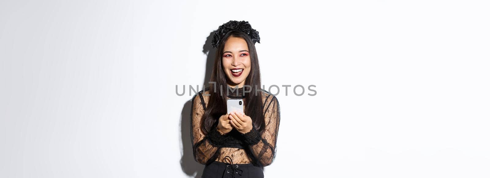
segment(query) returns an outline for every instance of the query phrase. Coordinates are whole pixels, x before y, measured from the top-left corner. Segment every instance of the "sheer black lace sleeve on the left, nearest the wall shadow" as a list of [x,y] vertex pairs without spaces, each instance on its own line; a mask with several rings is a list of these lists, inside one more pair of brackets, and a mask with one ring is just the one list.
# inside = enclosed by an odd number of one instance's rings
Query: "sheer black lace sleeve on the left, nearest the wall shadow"
[[[207,164],[219,155],[223,136],[216,130],[211,129],[206,136],[201,130],[201,119],[206,106],[202,94],[196,93],[192,98],[191,109],[191,140],[194,159],[201,164]],[[218,134],[218,135],[217,135]]]

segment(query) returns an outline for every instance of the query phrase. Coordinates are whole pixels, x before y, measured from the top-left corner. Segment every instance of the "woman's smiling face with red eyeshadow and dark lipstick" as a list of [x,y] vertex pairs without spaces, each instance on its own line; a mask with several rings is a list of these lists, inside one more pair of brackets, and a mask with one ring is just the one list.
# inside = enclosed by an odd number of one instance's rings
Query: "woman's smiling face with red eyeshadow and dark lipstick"
[[243,38],[229,37],[221,55],[228,86],[243,87],[250,73],[250,53]]

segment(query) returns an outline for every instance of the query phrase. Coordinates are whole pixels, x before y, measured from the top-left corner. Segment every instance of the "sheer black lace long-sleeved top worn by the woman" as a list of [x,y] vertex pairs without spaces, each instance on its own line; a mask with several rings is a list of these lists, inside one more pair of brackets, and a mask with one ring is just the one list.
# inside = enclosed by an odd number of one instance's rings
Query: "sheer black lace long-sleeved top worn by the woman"
[[[279,131],[280,112],[277,98],[267,91],[261,92],[265,118],[264,130],[259,132],[253,127],[250,132],[241,134],[236,129],[232,129],[228,134],[222,135],[213,128],[205,135],[200,125],[209,92],[209,88],[201,90],[192,98],[191,140],[195,160],[208,165],[214,161],[227,162],[224,157],[229,156],[235,164],[251,163],[260,167],[270,165],[275,158]],[[239,88],[238,93],[237,90],[229,93],[227,98],[244,98],[243,88]],[[215,125],[217,124],[218,121]]]

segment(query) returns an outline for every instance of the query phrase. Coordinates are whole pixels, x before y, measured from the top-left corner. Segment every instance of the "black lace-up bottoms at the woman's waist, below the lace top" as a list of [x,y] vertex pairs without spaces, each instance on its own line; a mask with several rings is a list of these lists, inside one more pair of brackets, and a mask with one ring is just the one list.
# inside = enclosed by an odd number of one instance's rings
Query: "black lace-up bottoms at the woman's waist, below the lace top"
[[214,161],[204,166],[201,178],[264,178],[264,170],[252,163],[233,164]]

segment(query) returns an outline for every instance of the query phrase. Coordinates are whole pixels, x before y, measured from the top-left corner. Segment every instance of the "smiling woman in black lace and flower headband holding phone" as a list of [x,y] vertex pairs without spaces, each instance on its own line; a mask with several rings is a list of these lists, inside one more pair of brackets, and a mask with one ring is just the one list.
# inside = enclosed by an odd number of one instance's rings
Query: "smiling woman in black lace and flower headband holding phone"
[[[194,158],[206,165],[202,178],[263,178],[263,167],[274,160],[279,103],[260,88],[258,34],[248,22],[230,21],[211,42],[216,85],[194,95],[191,111]],[[243,98],[245,113],[227,114],[229,98]]]

